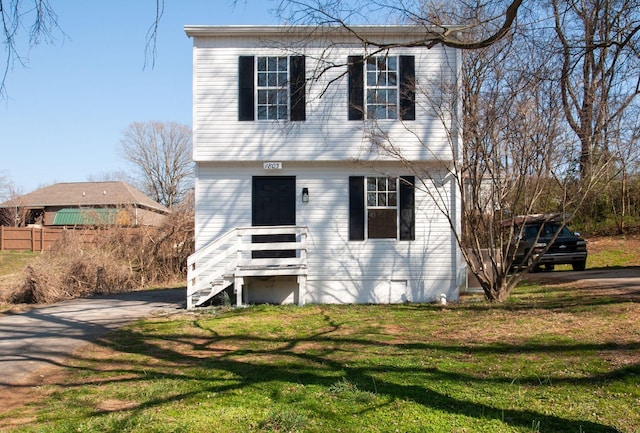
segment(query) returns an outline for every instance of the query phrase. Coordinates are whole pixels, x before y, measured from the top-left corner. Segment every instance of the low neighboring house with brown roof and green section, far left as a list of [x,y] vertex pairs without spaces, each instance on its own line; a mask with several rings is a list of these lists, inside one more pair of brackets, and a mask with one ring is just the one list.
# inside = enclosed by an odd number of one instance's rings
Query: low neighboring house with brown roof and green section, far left
[[169,213],[126,182],[56,183],[0,203],[24,226],[156,226]]

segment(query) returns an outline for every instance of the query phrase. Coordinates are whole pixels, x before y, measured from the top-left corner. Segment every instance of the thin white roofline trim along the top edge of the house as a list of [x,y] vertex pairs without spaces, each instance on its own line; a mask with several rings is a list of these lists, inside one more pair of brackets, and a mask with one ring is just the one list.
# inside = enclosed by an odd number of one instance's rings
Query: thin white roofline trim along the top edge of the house
[[445,30],[456,31],[459,26],[411,25],[185,25],[184,31],[189,37],[198,36],[287,36],[298,35],[365,35],[365,36],[416,36],[432,39],[429,33],[443,33]]

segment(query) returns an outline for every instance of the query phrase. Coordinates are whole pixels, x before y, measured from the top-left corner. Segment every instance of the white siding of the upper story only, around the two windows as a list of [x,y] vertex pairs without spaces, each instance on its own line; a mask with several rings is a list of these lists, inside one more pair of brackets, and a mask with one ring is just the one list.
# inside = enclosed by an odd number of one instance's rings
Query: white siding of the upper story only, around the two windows
[[[435,98],[436,83],[453,83],[456,57],[452,50],[403,48],[393,55],[416,58],[416,120],[348,121],[346,62],[348,55],[362,55],[353,47],[318,47],[287,50],[265,47],[266,42],[246,39],[196,38],[194,48],[194,158],[196,161],[299,160],[340,161],[379,159],[372,141],[382,135],[401,148],[410,160],[452,159],[451,140],[441,116],[433,110],[443,98]],[[304,122],[238,121],[238,57],[240,55],[306,55],[307,120]],[[320,67],[314,59],[340,65],[318,81]],[[331,83],[331,84],[329,84]],[[432,90],[425,90],[432,89]],[[438,90],[435,90],[438,93]],[[435,102],[434,102],[435,98]],[[448,98],[447,98],[448,100]],[[378,137],[372,140],[372,135]],[[384,141],[383,141],[384,143]],[[372,151],[373,150],[373,151]],[[384,156],[383,156],[384,157]],[[386,156],[394,159],[393,156]]]

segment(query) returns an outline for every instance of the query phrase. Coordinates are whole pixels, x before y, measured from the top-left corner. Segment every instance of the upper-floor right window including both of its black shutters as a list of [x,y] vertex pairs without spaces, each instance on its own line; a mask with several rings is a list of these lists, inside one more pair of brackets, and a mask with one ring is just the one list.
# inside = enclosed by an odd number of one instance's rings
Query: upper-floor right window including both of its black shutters
[[414,56],[349,56],[349,120],[416,119]]

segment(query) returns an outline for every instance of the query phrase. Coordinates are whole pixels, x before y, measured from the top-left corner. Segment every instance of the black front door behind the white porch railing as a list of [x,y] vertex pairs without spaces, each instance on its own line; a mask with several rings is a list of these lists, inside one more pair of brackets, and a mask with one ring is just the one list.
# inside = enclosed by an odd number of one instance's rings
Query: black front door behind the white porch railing
[[[296,224],[295,176],[253,178],[251,220],[254,226]],[[253,242],[293,242],[295,235],[255,235]],[[254,258],[295,257],[295,250],[254,251]]]

